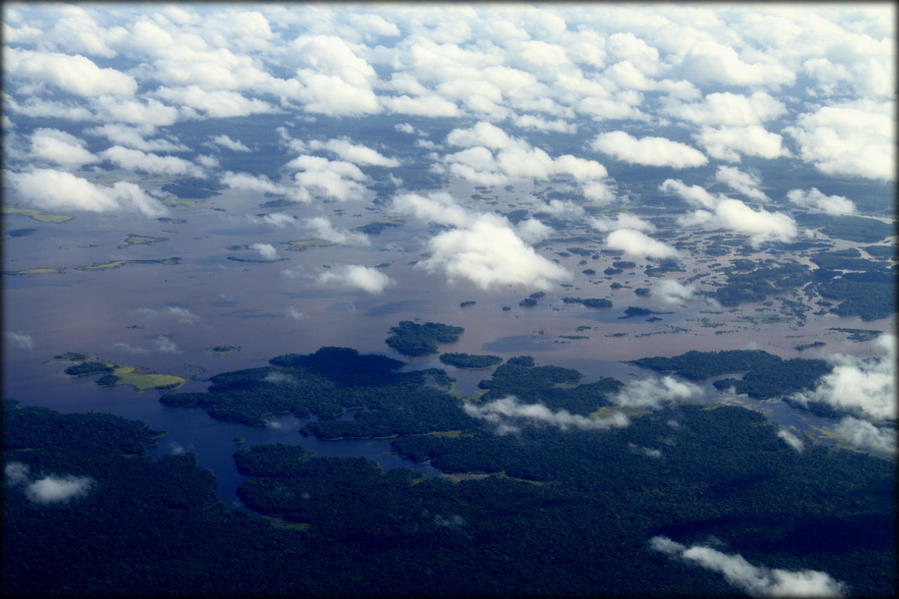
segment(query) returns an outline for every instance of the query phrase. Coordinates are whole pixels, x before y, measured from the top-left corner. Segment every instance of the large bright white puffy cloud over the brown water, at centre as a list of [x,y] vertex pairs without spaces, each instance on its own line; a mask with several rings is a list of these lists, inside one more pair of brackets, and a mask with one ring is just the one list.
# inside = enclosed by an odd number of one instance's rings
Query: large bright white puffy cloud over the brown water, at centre
[[420,263],[423,268],[442,270],[451,282],[468,279],[484,290],[503,285],[549,289],[571,277],[522,241],[509,221],[490,214],[435,236],[428,249],[431,256]]

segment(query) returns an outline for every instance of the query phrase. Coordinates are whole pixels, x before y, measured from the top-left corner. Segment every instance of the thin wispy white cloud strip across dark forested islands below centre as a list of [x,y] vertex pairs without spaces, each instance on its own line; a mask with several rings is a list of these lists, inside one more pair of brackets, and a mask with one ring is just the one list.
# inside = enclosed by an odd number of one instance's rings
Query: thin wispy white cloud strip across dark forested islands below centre
[[599,418],[572,414],[568,410],[552,411],[541,403],[522,404],[513,396],[495,399],[485,404],[466,402],[462,406],[465,413],[473,418],[486,420],[497,426],[498,434],[520,431],[520,426],[545,425],[560,430],[570,428],[580,430],[607,430],[628,426],[630,420],[621,412],[614,412]]

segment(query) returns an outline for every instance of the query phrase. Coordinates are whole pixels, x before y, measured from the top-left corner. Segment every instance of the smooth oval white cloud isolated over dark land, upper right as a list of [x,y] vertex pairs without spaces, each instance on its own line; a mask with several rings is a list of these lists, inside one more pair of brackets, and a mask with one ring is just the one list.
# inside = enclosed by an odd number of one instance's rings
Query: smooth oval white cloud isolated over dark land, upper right
[[643,166],[689,168],[707,164],[699,150],[664,137],[635,138],[625,131],[609,131],[596,137],[591,146],[617,160]]

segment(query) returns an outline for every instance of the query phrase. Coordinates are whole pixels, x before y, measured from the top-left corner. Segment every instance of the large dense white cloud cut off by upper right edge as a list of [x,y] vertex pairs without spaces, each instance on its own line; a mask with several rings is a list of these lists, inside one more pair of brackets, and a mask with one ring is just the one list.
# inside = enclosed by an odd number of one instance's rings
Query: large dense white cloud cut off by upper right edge
[[892,180],[895,177],[896,120],[892,102],[824,106],[796,119],[784,131],[799,144],[799,155],[833,176]]

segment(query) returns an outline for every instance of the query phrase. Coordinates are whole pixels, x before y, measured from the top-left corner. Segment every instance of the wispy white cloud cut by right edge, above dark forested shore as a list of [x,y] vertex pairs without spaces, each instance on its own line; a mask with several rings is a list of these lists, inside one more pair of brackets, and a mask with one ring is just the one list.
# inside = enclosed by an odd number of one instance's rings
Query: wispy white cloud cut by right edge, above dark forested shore
[[871,358],[836,354],[833,370],[811,391],[799,392],[799,402],[820,401],[874,420],[896,419],[896,337],[878,337],[881,355]]

